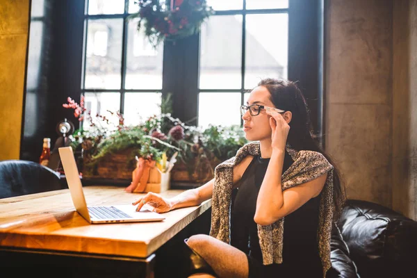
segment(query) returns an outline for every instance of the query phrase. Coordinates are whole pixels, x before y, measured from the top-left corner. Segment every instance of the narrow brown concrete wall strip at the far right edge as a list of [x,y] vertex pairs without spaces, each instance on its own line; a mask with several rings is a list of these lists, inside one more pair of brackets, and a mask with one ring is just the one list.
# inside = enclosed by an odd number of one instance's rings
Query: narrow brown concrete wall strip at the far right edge
[[393,209],[417,219],[417,0],[393,3]]

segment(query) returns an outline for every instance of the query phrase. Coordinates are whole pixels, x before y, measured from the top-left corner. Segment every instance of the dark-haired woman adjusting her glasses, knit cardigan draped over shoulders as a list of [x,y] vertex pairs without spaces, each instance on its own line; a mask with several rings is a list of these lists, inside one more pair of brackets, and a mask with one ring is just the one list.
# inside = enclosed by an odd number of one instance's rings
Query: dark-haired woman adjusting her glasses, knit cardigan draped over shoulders
[[264,79],[240,111],[255,142],[218,165],[213,180],[172,199],[148,193],[133,205],[163,213],[212,199],[210,236],[186,241],[193,261],[208,263],[195,270],[206,274],[192,277],[325,277],[345,192],[311,136],[302,92],[294,82]]

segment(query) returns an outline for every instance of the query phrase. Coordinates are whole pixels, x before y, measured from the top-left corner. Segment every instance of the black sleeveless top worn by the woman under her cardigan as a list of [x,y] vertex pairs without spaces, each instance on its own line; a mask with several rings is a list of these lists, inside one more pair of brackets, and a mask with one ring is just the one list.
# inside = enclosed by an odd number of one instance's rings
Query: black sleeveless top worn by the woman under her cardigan
[[[262,263],[262,253],[254,215],[259,188],[261,188],[269,161],[270,158],[254,156],[237,188],[233,190],[231,198],[230,244],[260,263]],[[282,173],[288,170],[292,163],[293,159],[286,152]],[[317,197],[311,198],[293,213],[285,216],[283,262],[279,264],[281,268],[286,265],[288,269],[292,270],[297,268],[307,270],[309,269],[307,265],[312,265],[314,271],[320,272],[322,275],[317,240],[320,196],[321,193]],[[313,273],[309,272],[309,274]]]

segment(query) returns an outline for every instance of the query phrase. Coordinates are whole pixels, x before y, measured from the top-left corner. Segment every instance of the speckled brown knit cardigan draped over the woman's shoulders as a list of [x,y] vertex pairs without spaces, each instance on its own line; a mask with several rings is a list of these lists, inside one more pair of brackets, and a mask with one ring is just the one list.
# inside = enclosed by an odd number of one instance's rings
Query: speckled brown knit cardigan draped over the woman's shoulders
[[[332,266],[330,261],[330,238],[334,213],[333,204],[333,165],[319,152],[299,151],[286,145],[293,164],[282,174],[282,190],[306,183],[327,172],[325,186],[320,199],[320,215],[318,227],[318,248],[322,261],[323,277]],[[210,236],[230,243],[230,209],[231,191],[233,189],[233,167],[245,156],[260,154],[259,142],[250,142],[241,147],[236,156],[215,167],[213,197],[211,199],[211,230]],[[258,224],[259,243],[263,256],[263,264],[282,263],[282,245],[284,236],[284,218],[270,225]]]

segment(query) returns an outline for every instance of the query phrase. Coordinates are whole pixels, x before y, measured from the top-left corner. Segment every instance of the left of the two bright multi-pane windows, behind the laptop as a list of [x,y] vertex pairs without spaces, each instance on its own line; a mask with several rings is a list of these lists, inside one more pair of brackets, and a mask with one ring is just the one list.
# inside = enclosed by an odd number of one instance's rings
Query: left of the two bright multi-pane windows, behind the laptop
[[[163,45],[153,49],[137,31],[135,0],[89,0],[85,11],[85,49],[81,94],[85,107],[117,126],[111,112],[120,111],[126,124],[138,124],[161,113]],[[90,122],[83,121],[83,129]]]

